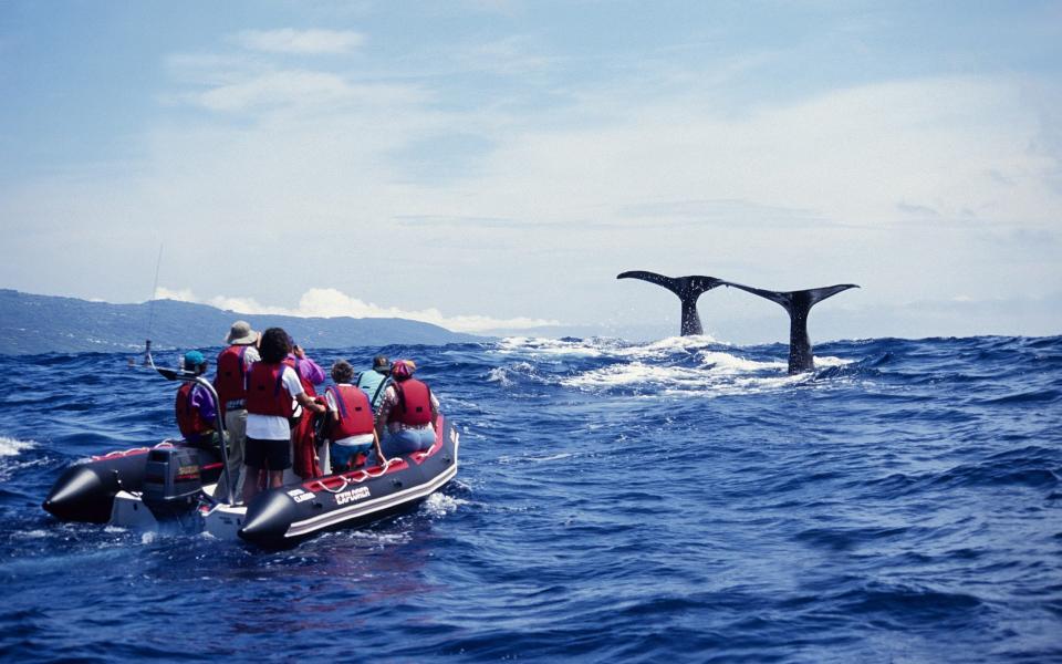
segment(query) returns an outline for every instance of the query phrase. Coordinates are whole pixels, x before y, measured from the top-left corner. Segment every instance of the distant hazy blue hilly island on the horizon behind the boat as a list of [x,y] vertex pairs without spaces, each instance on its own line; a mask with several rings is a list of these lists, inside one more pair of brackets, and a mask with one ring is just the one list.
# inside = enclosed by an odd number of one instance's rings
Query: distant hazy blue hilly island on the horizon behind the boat
[[239,319],[259,331],[281,326],[308,349],[488,339],[406,319],[253,315],[176,300],[112,304],[0,289],[0,354],[143,352],[149,320],[155,349],[220,346]]

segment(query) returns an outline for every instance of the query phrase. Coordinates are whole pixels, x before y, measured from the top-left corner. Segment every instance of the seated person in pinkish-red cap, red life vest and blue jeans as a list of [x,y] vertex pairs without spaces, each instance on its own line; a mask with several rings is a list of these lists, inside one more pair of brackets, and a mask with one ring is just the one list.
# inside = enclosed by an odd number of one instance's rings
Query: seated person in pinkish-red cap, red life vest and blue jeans
[[384,392],[376,418],[376,433],[388,456],[421,452],[435,443],[439,402],[430,387],[413,377],[416,369],[413,360],[391,365],[394,383]]

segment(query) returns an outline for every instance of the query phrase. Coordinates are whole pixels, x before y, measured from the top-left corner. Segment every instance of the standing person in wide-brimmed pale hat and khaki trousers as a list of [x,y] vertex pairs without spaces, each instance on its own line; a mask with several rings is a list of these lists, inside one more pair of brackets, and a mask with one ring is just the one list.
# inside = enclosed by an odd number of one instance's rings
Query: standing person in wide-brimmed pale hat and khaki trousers
[[[225,343],[227,349],[218,354],[218,373],[214,377],[214,388],[221,401],[225,414],[225,430],[229,440],[228,468],[232,479],[233,495],[240,496],[244,481],[243,448],[247,445],[247,374],[252,364],[261,360],[258,353],[258,332],[247,321],[236,321],[229,329]],[[218,480],[214,495],[217,498],[228,496],[225,473]]]

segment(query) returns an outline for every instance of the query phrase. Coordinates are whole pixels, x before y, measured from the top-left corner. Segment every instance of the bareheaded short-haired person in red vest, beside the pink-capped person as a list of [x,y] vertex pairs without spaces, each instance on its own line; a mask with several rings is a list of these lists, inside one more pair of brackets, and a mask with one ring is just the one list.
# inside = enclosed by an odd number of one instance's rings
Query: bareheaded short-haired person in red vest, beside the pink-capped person
[[352,385],[354,367],[346,360],[332,365],[332,381],[335,385],[324,392],[329,404],[327,435],[331,439],[329,456],[332,471],[360,468],[368,460],[368,454],[376,452],[376,461],[385,461],[376,434],[376,418],[368,394]]

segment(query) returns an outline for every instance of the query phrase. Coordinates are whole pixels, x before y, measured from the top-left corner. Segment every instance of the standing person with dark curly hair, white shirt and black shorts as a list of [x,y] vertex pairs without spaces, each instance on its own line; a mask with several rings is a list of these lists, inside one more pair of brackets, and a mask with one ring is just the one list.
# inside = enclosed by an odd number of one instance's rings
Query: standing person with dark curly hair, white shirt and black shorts
[[262,359],[248,373],[244,502],[250,502],[260,485],[275,488],[283,484],[284,470],[291,467],[289,418],[295,405],[314,413],[326,411],[305,393],[295,370],[284,363],[290,351],[284,330],[266,330],[259,349]]

